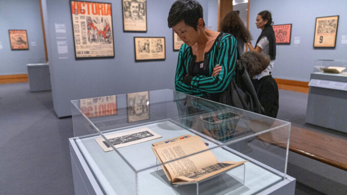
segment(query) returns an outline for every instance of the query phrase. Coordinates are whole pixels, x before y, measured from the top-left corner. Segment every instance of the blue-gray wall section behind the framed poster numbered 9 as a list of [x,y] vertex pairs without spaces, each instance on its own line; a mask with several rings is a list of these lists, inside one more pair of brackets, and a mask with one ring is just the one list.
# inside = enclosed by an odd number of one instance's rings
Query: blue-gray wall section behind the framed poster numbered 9
[[[341,44],[347,35],[347,1],[345,0],[252,0],[250,4],[249,30],[252,44],[261,33],[256,29],[255,18],[263,10],[269,10],[275,25],[292,24],[290,45],[277,45],[273,76],[276,78],[309,81],[316,59],[347,59],[347,45]],[[339,15],[336,48],[314,49],[313,38],[316,17]],[[294,44],[299,37],[300,44]]]

